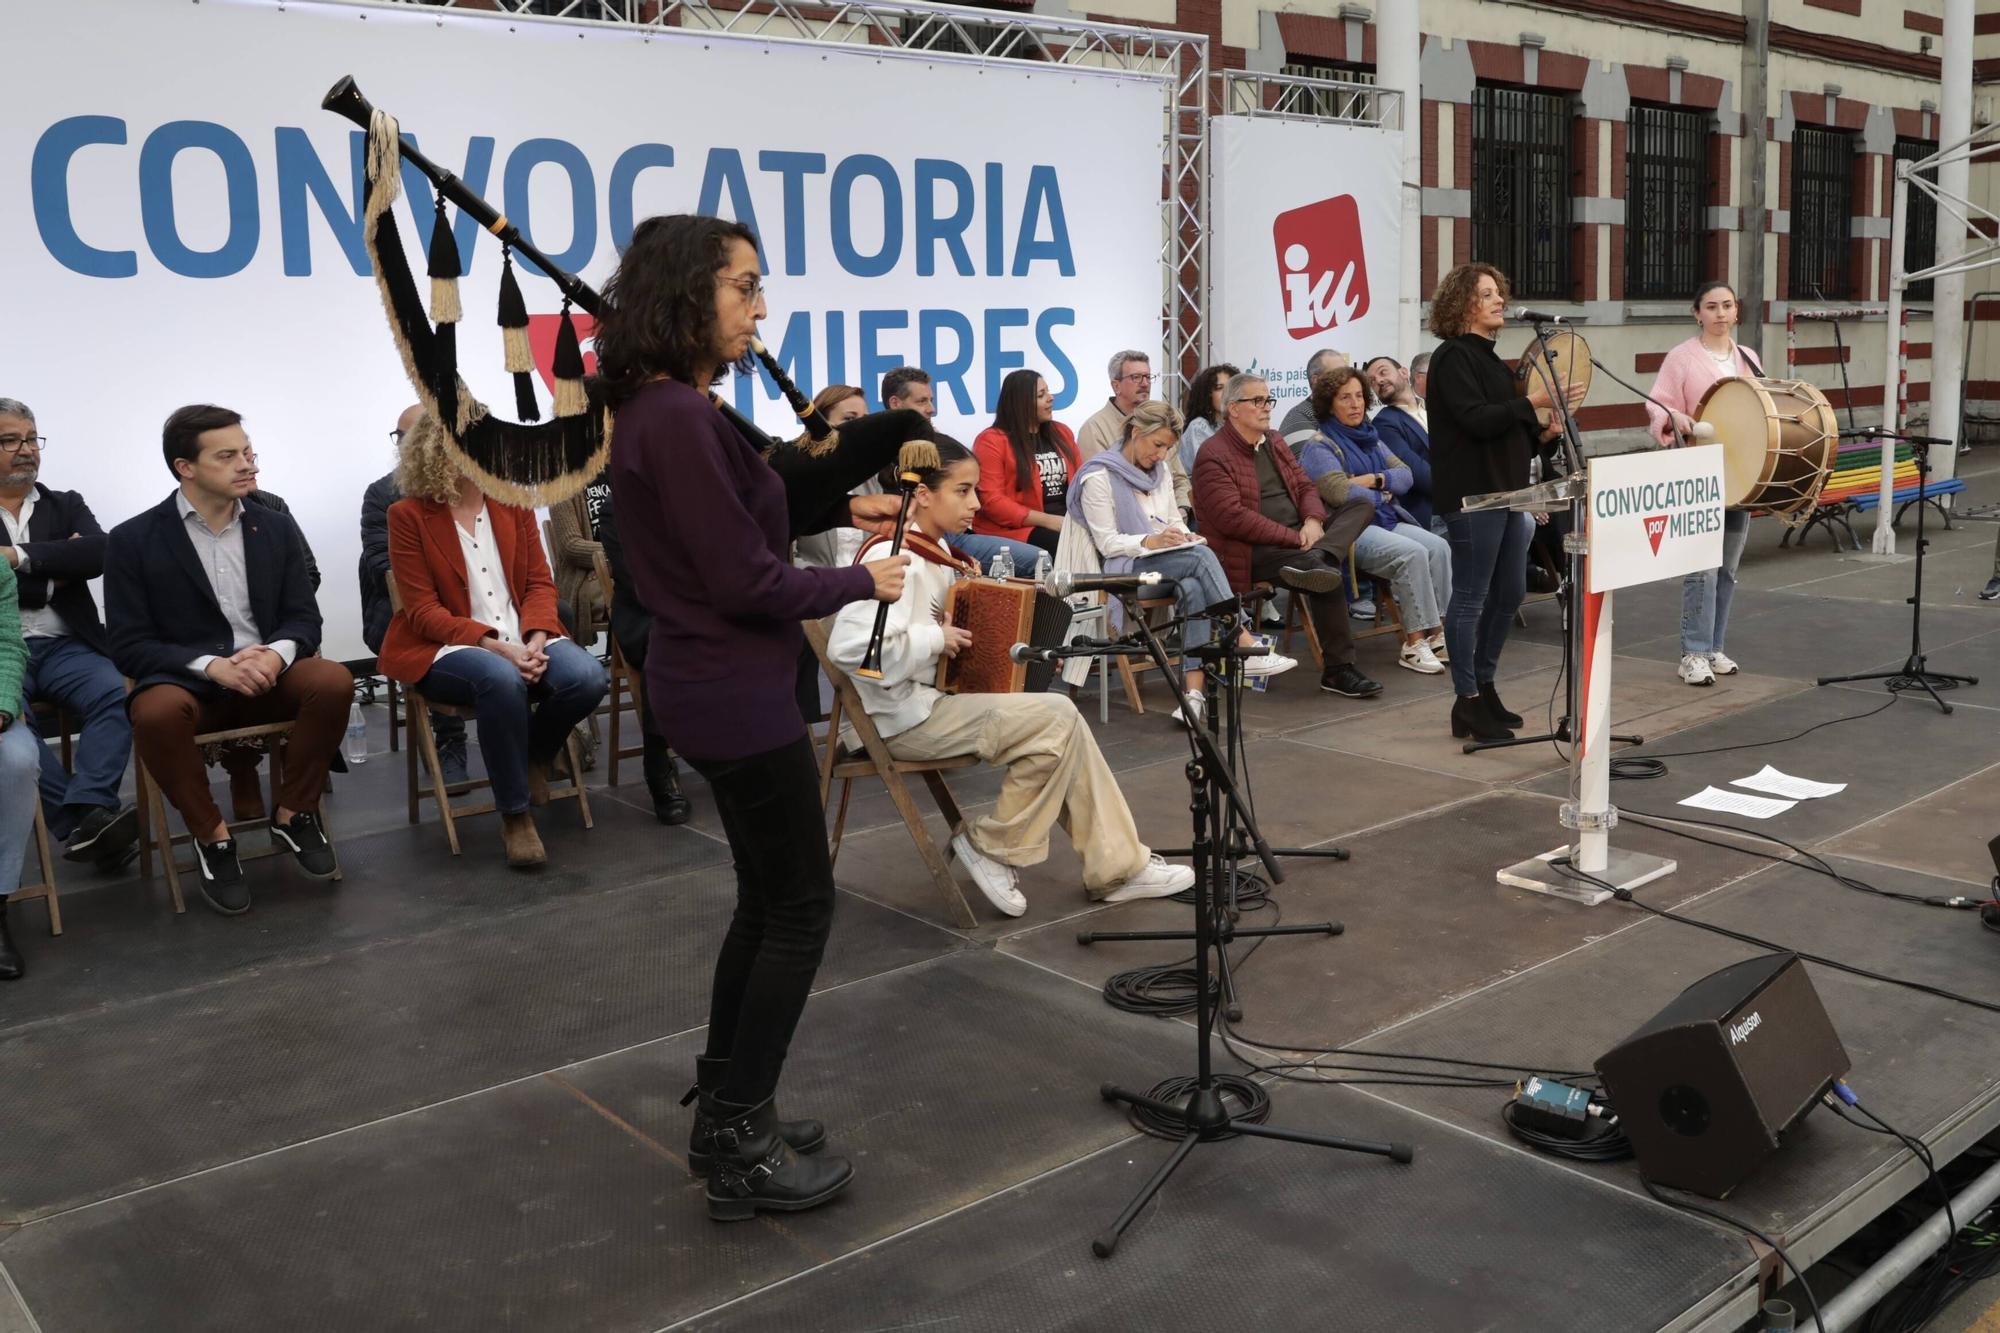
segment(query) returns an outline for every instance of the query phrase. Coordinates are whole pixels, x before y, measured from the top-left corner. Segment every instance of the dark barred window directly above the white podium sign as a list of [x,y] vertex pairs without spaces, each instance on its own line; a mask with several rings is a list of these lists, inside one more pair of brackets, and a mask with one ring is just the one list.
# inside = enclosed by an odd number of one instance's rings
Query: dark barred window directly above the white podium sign
[[1708,116],[1634,106],[1626,120],[1626,296],[1686,298],[1708,238]]

